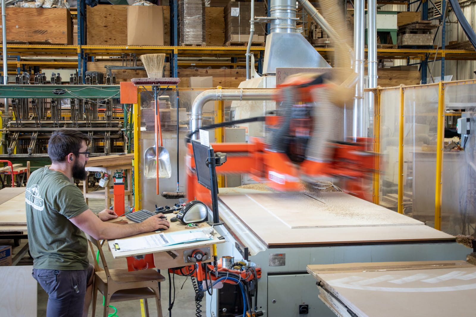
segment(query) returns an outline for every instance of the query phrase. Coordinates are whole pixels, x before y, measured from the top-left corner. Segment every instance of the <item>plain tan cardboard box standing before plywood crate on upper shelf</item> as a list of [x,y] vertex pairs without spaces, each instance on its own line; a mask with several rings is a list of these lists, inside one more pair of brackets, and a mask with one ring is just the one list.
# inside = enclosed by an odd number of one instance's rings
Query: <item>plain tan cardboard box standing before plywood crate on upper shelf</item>
[[127,8],[127,45],[164,45],[164,14],[159,6]]

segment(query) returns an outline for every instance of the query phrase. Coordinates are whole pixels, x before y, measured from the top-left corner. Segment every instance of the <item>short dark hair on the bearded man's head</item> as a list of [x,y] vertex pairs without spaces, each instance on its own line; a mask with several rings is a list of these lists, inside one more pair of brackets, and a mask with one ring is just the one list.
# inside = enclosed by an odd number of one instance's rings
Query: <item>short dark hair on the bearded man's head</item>
[[[82,141],[88,144],[88,136],[76,130],[60,129],[53,132],[48,141],[48,155],[51,162],[64,162],[66,155],[79,152]],[[79,154],[75,155],[79,156]]]

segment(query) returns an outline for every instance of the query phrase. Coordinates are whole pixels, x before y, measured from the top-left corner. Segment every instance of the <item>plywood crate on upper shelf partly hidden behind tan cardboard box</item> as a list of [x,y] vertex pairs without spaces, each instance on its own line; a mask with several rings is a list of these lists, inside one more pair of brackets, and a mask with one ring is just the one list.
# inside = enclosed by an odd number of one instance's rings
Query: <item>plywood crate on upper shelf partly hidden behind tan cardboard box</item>
[[[87,7],[86,38],[88,45],[127,45],[127,5],[99,4]],[[161,6],[164,14],[164,45],[170,45],[170,7]]]

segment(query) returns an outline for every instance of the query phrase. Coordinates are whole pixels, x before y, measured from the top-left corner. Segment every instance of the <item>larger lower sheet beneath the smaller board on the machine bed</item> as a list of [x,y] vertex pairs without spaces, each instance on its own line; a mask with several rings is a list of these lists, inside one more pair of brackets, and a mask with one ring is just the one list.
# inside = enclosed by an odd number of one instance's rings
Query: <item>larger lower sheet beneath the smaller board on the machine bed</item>
[[[288,195],[280,193],[276,197],[276,204],[281,204]],[[293,217],[286,216],[284,221],[281,221],[258,204],[253,205],[248,195],[228,196],[220,194],[219,200],[221,209],[231,211],[239,221],[243,222],[268,247],[388,241],[455,241],[454,236],[423,224],[291,228],[285,222]],[[312,211],[312,209],[307,208],[307,212]],[[397,215],[399,217],[407,217],[400,214]],[[306,213],[302,214],[302,217],[304,217],[303,221],[307,221]]]

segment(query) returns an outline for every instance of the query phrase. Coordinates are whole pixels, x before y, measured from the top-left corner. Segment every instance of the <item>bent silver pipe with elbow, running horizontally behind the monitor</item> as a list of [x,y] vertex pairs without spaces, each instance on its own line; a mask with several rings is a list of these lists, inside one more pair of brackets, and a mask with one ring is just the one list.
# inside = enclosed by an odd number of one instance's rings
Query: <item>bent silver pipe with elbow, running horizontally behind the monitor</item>
[[[274,100],[276,89],[210,89],[200,93],[192,104],[190,131],[202,126],[202,109],[208,101],[221,100]],[[192,135],[196,140],[197,136]]]

